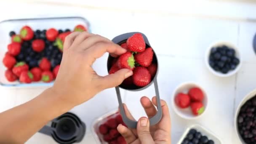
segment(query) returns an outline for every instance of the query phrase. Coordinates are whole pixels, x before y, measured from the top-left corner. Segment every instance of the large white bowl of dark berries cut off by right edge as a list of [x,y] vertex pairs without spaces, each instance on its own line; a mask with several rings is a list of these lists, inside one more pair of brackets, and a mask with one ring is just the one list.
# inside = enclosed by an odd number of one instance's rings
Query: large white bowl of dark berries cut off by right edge
[[243,144],[256,144],[256,89],[240,102],[235,115],[235,129]]

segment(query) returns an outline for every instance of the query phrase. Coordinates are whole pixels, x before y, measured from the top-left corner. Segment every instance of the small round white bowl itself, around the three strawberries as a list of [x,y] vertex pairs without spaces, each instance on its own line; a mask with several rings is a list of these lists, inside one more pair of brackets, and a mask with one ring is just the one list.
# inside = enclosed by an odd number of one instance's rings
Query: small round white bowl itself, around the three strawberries
[[[175,100],[174,100],[175,96],[178,93],[186,93],[187,94],[190,88],[200,88],[203,91],[203,94],[204,94],[203,104],[204,104],[205,110],[201,115],[193,115],[190,107],[181,109],[175,103]],[[179,115],[180,117],[187,119],[187,120],[192,120],[192,119],[201,117],[207,109],[207,103],[208,103],[208,97],[207,97],[207,94],[205,93],[205,90],[200,85],[197,85],[196,83],[192,83],[192,82],[186,82],[186,83],[182,83],[181,85],[179,85],[173,91],[173,95],[171,98],[171,104],[172,104],[174,112],[176,112],[176,114]]]

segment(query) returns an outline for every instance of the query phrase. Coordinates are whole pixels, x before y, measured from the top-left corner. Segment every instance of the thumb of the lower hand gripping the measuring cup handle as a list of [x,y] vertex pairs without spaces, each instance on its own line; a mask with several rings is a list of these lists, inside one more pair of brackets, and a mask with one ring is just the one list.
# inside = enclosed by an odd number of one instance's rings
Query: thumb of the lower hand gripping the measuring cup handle
[[149,132],[149,119],[141,117],[137,124],[137,133],[141,144],[155,144]]

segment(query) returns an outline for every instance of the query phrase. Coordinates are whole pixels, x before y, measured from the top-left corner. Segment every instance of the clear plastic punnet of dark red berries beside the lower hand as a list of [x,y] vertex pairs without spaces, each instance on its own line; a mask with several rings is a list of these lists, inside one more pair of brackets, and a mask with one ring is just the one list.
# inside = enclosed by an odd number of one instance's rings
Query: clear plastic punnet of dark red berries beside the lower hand
[[113,110],[97,118],[91,127],[97,144],[126,144],[123,136],[117,131],[117,126],[120,123],[125,125],[117,110]]

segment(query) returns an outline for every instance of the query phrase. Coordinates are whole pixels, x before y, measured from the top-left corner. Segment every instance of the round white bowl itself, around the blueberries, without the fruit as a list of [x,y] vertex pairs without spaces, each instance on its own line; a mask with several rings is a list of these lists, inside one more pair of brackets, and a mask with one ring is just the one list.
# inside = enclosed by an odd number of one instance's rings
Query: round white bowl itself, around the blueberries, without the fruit
[[[209,57],[210,57],[210,54],[211,54],[211,48],[214,48],[214,47],[217,47],[217,46],[222,46],[222,45],[226,45],[227,47],[229,48],[233,48],[235,50],[235,56],[240,60],[240,63],[237,65],[236,69],[234,70],[229,70],[229,72],[227,74],[223,74],[221,72],[216,72],[209,64]],[[241,53],[239,51],[239,49],[237,48],[237,46],[233,45],[232,43],[229,43],[229,42],[224,42],[224,41],[220,41],[220,42],[216,42],[216,43],[213,43],[211,44],[206,53],[205,53],[205,64],[206,64],[206,67],[208,67],[208,69],[216,76],[219,76],[219,77],[229,77],[231,75],[234,75],[241,67],[242,65],[242,56],[241,56]]]

